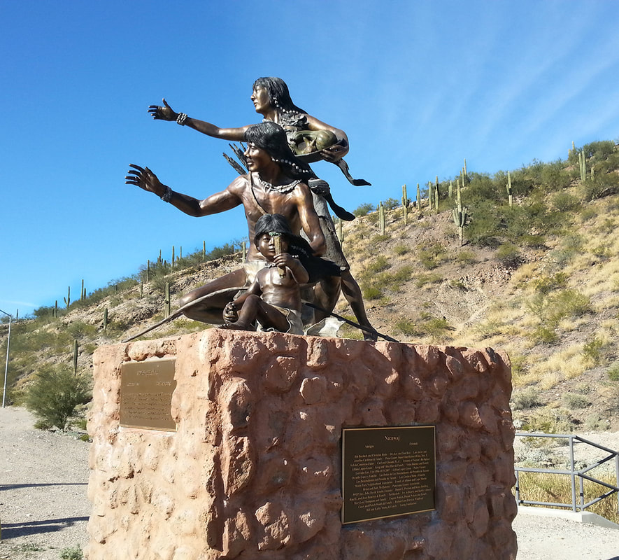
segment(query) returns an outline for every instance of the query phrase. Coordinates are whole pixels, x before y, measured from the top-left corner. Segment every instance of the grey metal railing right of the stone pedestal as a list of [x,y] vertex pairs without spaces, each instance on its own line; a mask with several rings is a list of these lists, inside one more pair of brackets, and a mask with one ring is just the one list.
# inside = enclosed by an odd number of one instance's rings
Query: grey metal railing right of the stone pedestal
[[[580,437],[579,435],[561,435],[561,434],[548,434],[548,433],[516,433],[517,437],[554,437],[557,439],[568,440],[569,442],[569,470],[562,469],[550,469],[550,468],[515,468],[515,477],[516,477],[516,485],[515,485],[515,498],[518,505],[548,505],[550,507],[565,507],[573,512],[583,512],[588,507],[598,503],[604,498],[608,498],[613,493],[619,492],[619,451],[614,451],[613,449],[609,449],[608,447],[604,447],[603,445],[599,445],[597,443],[591,442],[589,440],[585,440],[584,437]],[[599,461],[595,461],[592,465],[589,465],[585,468],[581,468],[576,470],[576,463],[574,461],[574,444],[587,444],[592,447],[596,447],[601,451],[604,451],[608,454],[604,458],[599,459]],[[607,482],[603,482],[602,480],[596,479],[588,475],[592,469],[607,463],[608,461],[612,461],[615,459],[615,484],[608,484]],[[522,499],[520,496],[520,472],[540,472],[543,474],[555,474],[555,475],[567,475],[571,480],[571,504],[566,503],[554,503],[554,502],[536,502],[532,500]],[[578,489],[576,488],[576,479],[578,478]],[[595,484],[599,484],[600,486],[604,486],[607,489],[601,496],[597,496],[593,500],[585,503],[585,480],[589,480],[590,482],[595,482]],[[578,494],[578,495],[577,495]],[[619,504],[618,504],[619,510]]]

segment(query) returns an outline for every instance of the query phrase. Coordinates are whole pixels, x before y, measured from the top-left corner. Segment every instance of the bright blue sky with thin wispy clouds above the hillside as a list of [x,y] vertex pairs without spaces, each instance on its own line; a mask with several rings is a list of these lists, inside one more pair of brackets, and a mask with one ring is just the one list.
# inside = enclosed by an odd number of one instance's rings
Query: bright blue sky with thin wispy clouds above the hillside
[[0,0],[0,309],[20,316],[246,235],[241,209],[191,218],[124,184],[148,165],[198,198],[235,173],[227,144],[155,122],[162,97],[220,126],[259,120],[249,96],[280,76],[346,131],[349,210],[401,186],[566,158],[619,138],[615,1],[248,2]]

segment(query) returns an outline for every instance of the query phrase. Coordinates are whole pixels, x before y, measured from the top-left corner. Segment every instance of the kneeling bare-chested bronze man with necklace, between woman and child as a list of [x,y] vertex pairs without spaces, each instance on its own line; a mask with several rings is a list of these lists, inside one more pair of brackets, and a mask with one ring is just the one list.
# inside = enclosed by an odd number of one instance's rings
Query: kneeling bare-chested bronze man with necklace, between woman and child
[[[325,251],[318,215],[306,181],[314,176],[310,167],[296,158],[287,144],[285,132],[276,123],[264,122],[247,128],[245,152],[248,174],[240,175],[222,190],[204,200],[171,190],[157,179],[148,167],[131,164],[126,183],[155,193],[190,216],[208,216],[243,204],[247,216],[248,237],[255,238],[255,225],[264,214],[283,215],[294,235],[303,231],[315,255]],[[181,305],[213,294],[202,303],[189,307],[184,314],[197,321],[220,323],[222,309],[229,302],[226,288],[247,286],[264,266],[264,257],[255,244],[248,251],[248,265],[206,283],[185,294]],[[221,293],[221,297],[218,297]]]

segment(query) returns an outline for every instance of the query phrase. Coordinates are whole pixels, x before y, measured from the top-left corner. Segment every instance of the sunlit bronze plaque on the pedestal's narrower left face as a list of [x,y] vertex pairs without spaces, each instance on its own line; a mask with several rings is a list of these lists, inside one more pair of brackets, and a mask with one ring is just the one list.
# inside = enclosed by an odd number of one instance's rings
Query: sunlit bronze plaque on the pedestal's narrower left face
[[176,432],[172,393],[176,360],[127,362],[120,367],[120,426]]

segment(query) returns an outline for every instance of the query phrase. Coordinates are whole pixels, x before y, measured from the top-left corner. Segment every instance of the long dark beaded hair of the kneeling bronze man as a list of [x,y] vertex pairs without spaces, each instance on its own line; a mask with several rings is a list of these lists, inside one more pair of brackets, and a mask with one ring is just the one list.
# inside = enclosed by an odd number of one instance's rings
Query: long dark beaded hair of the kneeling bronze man
[[266,151],[292,179],[307,180],[315,177],[311,167],[292,153],[286,133],[277,123],[265,120],[250,126],[245,133],[245,141]]

